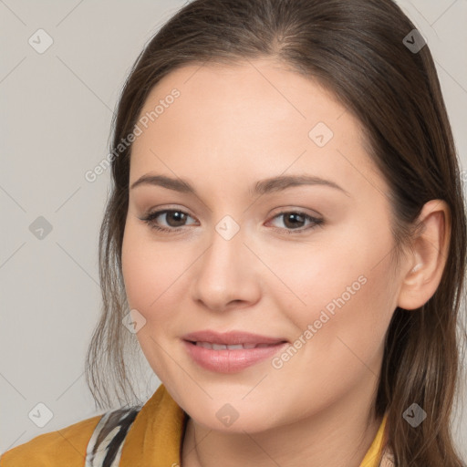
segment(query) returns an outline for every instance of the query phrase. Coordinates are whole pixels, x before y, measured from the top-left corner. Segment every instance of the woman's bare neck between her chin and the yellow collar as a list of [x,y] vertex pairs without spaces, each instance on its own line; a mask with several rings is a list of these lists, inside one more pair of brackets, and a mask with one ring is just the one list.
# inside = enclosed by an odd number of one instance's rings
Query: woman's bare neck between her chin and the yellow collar
[[361,386],[355,389],[319,413],[267,431],[213,431],[189,418],[182,467],[358,467],[382,418],[368,404],[374,392],[362,397]]

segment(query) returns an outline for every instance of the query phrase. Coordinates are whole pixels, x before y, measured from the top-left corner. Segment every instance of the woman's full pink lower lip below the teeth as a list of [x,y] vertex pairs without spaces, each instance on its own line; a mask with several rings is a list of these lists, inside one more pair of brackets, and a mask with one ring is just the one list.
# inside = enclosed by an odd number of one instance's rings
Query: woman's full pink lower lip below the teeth
[[183,341],[185,348],[192,359],[202,368],[210,369],[218,373],[235,373],[244,368],[251,367],[266,358],[273,357],[279,350],[285,348],[288,343],[281,342],[264,348],[236,348],[213,350],[197,346],[187,340]]

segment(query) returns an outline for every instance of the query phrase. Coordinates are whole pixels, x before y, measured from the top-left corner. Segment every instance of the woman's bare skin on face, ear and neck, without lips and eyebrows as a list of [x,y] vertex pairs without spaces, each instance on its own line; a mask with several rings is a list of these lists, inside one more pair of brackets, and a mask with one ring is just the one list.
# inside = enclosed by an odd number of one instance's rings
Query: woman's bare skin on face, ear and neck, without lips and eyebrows
[[[355,466],[381,419],[372,411],[384,338],[396,306],[425,303],[441,280],[449,223],[444,202],[420,213],[425,230],[395,267],[388,185],[365,150],[358,120],[325,88],[273,59],[190,65],[150,92],[140,115],[181,96],[134,142],[130,185],[142,175],[187,180],[197,195],[140,184],[130,190],[122,266],[137,337],[151,368],[189,415],[182,465]],[[308,136],[325,122],[320,148]],[[252,196],[255,182],[310,174],[337,183]],[[159,233],[141,221],[163,209]],[[299,211],[294,233],[281,212]],[[240,230],[226,240],[225,215]],[[183,226],[184,225],[184,226]],[[287,234],[286,231],[292,232]],[[416,271],[412,268],[419,265]],[[280,369],[271,358],[233,374],[199,367],[181,337],[244,330],[294,342],[348,286],[367,280]],[[410,313],[410,311],[408,311]],[[216,412],[229,403],[238,419]]]

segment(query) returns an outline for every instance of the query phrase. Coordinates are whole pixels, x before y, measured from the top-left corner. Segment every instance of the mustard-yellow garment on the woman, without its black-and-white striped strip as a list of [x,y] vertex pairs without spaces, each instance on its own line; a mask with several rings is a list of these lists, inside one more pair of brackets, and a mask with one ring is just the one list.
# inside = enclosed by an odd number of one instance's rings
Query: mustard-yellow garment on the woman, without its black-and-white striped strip
[[[86,450],[100,415],[58,431],[36,436],[6,451],[0,467],[83,467]],[[163,385],[144,404],[127,434],[121,467],[181,465],[182,435],[187,416]],[[359,467],[379,467],[386,416]]]

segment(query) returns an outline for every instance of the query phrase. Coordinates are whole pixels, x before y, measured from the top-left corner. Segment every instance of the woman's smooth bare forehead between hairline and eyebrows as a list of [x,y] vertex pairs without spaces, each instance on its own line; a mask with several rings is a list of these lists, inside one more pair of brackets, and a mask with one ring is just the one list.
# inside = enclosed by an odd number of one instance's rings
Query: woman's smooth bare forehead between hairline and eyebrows
[[251,179],[289,167],[356,185],[363,172],[378,177],[358,120],[317,81],[274,60],[175,69],[152,88],[139,117],[147,128],[133,143],[130,182],[168,169]]

